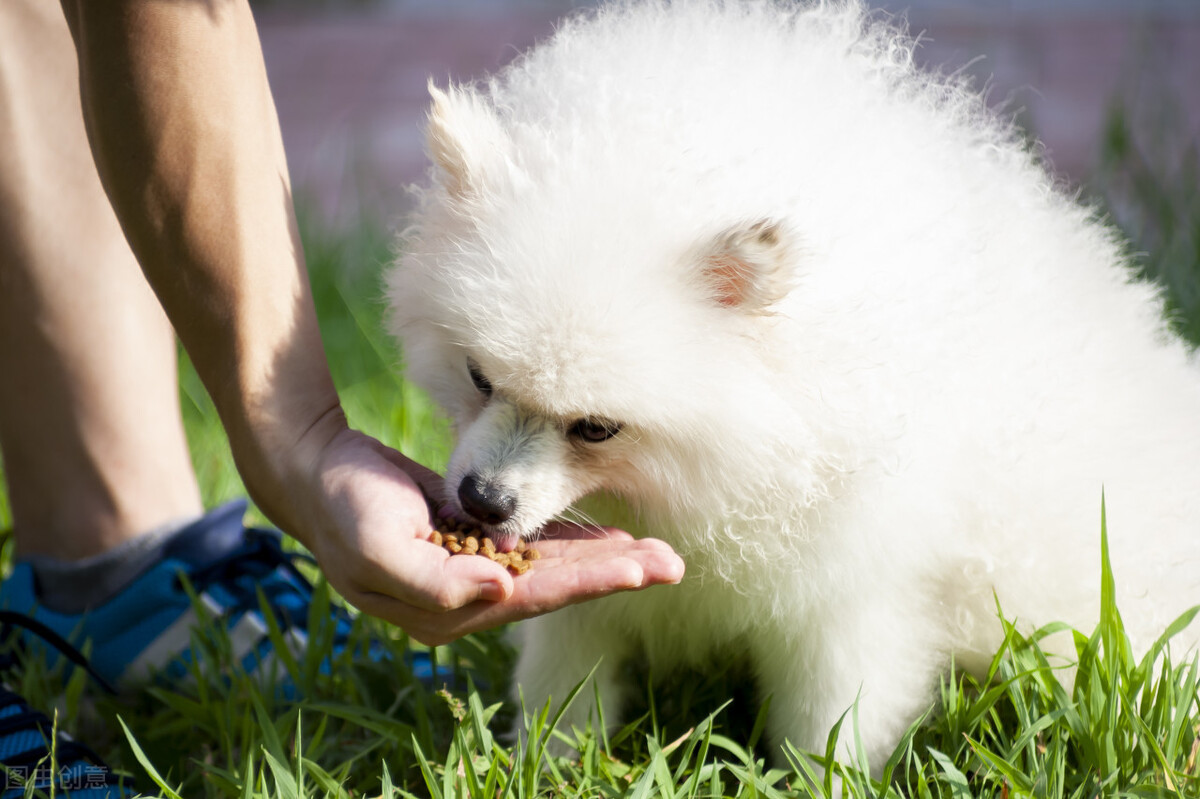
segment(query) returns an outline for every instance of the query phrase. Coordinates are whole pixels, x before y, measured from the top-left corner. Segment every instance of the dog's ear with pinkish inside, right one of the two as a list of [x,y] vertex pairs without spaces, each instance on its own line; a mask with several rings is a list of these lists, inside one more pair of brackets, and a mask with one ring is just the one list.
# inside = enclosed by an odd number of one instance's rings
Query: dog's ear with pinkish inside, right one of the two
[[792,235],[780,222],[734,226],[704,248],[701,276],[718,305],[769,313],[792,287]]

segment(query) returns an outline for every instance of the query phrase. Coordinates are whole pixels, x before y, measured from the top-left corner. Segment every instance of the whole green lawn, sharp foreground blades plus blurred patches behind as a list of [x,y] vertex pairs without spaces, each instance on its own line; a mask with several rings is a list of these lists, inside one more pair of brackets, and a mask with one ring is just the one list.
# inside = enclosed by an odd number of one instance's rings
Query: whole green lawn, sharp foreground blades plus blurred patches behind
[[[1200,341],[1196,146],[1177,148],[1178,160],[1165,162],[1148,155],[1160,150],[1141,137],[1136,108],[1115,106],[1092,191],[1147,253],[1142,268],[1163,281],[1174,324]],[[448,427],[397,377],[398,355],[382,334],[378,271],[389,258],[388,235],[366,223],[341,233],[312,223],[304,229],[352,425],[440,468]],[[181,362],[185,422],[211,505],[240,495],[241,483],[211,404]],[[1099,509],[1096,525],[1102,535]],[[769,699],[748,689],[736,663],[685,675],[635,667],[643,690],[628,726],[607,734],[602,723],[564,729],[556,725],[558,708],[509,699],[514,655],[503,631],[438,649],[452,677],[431,691],[394,665],[414,644],[367,618],[356,620],[354,645],[329,669],[320,668],[329,625],[317,624],[310,655],[284,663],[294,691],[239,673],[228,641],[211,629],[197,633],[197,644],[218,668],[193,669],[182,684],[137,696],[107,696],[82,672],[40,663],[7,681],[40,707],[56,708],[65,729],[149,795],[1200,797],[1200,668],[1194,659],[1172,662],[1154,653],[1135,661],[1111,583],[1097,590],[1103,619],[1094,631],[1075,633],[1073,687],[1063,686],[1062,665],[1038,648],[1055,627],[1030,637],[1009,627],[990,679],[979,685],[947,675],[940,709],[910,729],[886,764],[842,767],[827,752],[768,752],[761,733]],[[337,601],[318,581],[316,615]],[[368,656],[371,647],[388,657]],[[842,723],[852,732],[852,711]],[[563,737],[578,757],[547,752],[547,741]],[[882,779],[868,776],[870,767]]]

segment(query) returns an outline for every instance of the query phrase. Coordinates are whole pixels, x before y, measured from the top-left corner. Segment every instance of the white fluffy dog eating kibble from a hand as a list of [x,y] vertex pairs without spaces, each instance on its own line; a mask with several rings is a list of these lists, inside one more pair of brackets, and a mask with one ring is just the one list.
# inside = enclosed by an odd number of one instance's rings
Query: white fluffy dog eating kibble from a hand
[[688,563],[524,623],[527,701],[602,659],[612,719],[624,656],[739,651],[776,740],[857,699],[878,763],[996,597],[1092,629],[1102,491],[1134,645],[1200,602],[1200,371],[1156,289],[860,4],[576,17],[433,90],[428,146],[389,289],[452,498],[505,547],[587,513]]

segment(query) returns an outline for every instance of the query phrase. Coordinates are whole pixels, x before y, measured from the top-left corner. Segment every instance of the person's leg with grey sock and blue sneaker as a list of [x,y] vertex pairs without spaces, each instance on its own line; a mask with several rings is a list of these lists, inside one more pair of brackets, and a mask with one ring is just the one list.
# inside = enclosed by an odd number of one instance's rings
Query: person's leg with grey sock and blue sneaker
[[[173,331],[97,176],[56,4],[0,2],[0,453],[18,559],[0,608],[90,641],[92,666],[126,686],[191,647],[180,573],[247,669],[274,661],[259,591],[304,648],[312,587],[278,535],[247,530],[244,504],[202,516]],[[349,617],[331,624],[337,654]]]

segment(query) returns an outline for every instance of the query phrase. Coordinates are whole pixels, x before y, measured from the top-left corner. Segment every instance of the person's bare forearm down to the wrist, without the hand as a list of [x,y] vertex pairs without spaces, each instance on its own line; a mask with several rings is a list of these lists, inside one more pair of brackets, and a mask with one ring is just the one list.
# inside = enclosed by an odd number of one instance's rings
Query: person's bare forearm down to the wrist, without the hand
[[344,421],[250,10],[238,0],[64,6],[104,188],[247,487],[290,527],[282,487],[301,440]]

